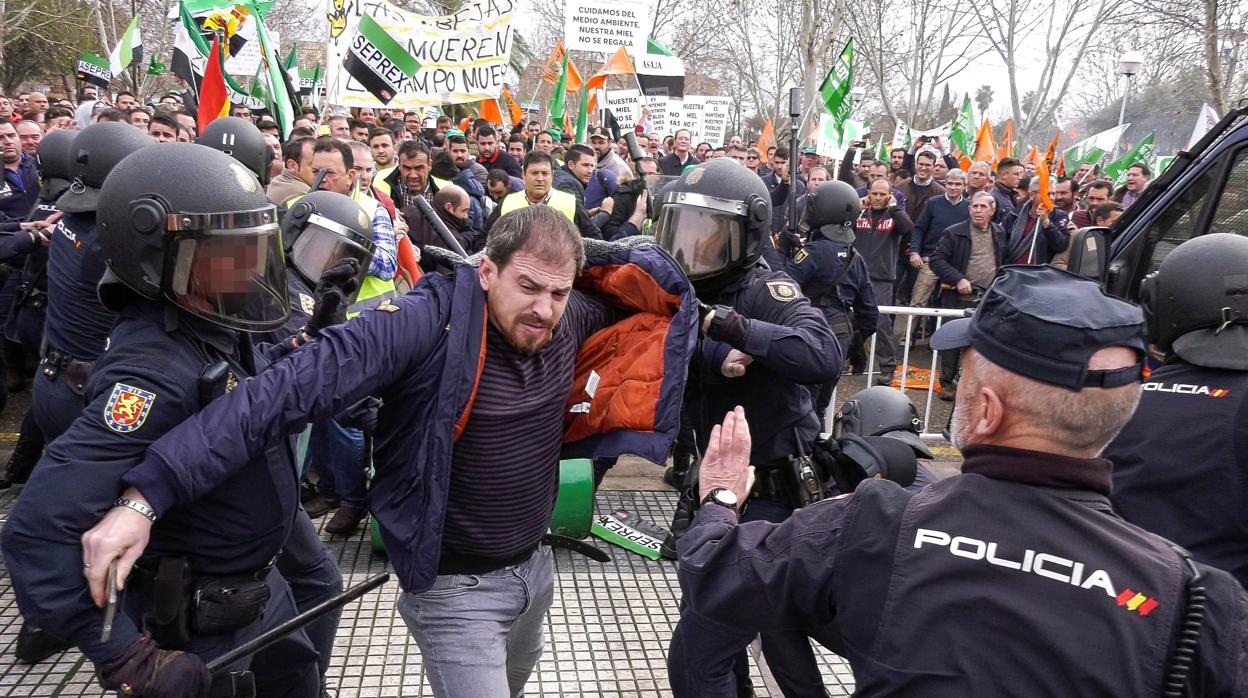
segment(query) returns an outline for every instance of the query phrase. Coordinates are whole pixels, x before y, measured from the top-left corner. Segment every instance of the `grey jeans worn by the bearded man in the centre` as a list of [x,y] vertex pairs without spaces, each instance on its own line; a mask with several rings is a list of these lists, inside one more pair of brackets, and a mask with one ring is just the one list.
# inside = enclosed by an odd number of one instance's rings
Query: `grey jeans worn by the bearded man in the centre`
[[542,622],[554,601],[550,548],[485,574],[439,574],[398,611],[439,698],[518,698],[542,657]]

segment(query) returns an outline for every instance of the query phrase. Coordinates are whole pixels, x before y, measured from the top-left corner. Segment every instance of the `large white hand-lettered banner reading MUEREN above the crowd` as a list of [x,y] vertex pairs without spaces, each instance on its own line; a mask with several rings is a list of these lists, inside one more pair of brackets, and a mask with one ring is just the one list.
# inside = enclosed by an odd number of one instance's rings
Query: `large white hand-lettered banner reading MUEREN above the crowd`
[[373,17],[421,64],[421,70],[386,106],[408,109],[493,99],[507,81],[514,0],[472,0],[446,16],[417,15],[386,0],[328,1],[326,99],[329,104],[382,106],[343,69],[362,15]]

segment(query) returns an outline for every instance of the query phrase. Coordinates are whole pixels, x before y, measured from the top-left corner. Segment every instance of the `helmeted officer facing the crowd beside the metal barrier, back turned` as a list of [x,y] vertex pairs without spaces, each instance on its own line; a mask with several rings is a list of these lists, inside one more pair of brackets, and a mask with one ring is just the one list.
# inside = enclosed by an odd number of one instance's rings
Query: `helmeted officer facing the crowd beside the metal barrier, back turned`
[[[815,187],[806,195],[810,237],[785,263],[785,273],[801,286],[810,305],[824,312],[842,353],[875,332],[880,315],[866,262],[854,250],[854,224],[860,212],[861,200],[850,185],[832,181]],[[825,381],[815,396],[815,415],[825,431],[835,388],[836,378]]]

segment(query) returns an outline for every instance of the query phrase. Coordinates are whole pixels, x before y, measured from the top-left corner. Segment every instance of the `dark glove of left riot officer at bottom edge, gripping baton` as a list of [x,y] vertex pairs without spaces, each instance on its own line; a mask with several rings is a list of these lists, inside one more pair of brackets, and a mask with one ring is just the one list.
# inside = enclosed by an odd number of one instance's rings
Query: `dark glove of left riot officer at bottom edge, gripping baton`
[[121,657],[100,667],[100,686],[142,698],[207,698],[212,674],[195,654],[161,649],[139,636]]

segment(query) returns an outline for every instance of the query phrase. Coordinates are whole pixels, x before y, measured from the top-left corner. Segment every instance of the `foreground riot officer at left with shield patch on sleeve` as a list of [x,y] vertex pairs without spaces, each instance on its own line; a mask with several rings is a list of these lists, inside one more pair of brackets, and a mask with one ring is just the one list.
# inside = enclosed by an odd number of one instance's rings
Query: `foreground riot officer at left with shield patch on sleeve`
[[[49,446],[0,546],[22,612],[71,638],[105,688],[202,697],[213,681],[205,661],[296,612],[273,568],[298,511],[290,443],[271,436],[251,467],[158,517],[137,493],[146,483],[129,476],[152,441],[263,368],[266,357],[240,332],[286,321],[277,211],[242,165],[191,144],[124,160],[99,206],[109,266],[100,298],[117,323],[86,410]],[[110,509],[155,526],[142,557],[117,561],[129,582],[104,631],[106,594],[90,594],[87,582],[109,569],[84,561],[110,543],[84,532]],[[248,669],[258,696],[319,691],[317,653],[302,629],[218,679],[246,682]]]

